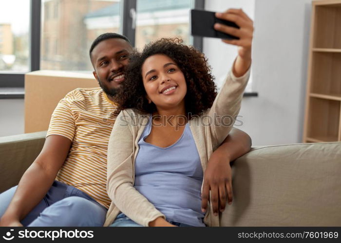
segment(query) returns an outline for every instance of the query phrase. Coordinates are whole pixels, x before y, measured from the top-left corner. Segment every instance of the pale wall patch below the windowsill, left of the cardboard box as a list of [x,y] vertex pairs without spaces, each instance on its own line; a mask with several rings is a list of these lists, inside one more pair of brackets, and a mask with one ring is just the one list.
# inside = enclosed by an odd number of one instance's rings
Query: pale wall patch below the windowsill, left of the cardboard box
[[24,99],[0,99],[0,137],[24,133]]

